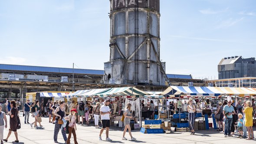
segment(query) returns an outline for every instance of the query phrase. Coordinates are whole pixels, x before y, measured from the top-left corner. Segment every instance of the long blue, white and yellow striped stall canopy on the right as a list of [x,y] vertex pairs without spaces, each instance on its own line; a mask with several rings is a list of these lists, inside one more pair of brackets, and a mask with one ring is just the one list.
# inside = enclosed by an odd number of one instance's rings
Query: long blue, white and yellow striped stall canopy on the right
[[256,88],[170,86],[159,95],[191,95],[191,96],[236,95],[240,97],[245,97],[250,95],[256,95]]

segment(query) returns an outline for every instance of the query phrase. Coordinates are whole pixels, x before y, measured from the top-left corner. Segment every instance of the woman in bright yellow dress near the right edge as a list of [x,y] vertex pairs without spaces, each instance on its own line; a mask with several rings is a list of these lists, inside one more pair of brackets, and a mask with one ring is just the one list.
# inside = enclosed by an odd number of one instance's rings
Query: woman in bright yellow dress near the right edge
[[250,101],[246,101],[246,108],[243,110],[245,114],[245,126],[248,131],[248,138],[246,140],[251,140],[254,138],[253,134],[253,108]]

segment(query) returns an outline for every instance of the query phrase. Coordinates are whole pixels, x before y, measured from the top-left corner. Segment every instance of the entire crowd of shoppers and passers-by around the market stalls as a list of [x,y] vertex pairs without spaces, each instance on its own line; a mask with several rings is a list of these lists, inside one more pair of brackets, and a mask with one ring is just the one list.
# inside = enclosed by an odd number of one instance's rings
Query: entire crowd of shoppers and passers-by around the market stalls
[[[18,134],[17,134],[17,123],[18,123],[18,115],[21,108],[20,101],[9,101],[6,99],[6,111],[1,111],[2,106],[0,105],[0,140],[1,144],[3,141],[8,141],[10,134],[12,131],[15,134],[16,140],[13,142],[19,142]],[[77,143],[76,140],[76,129],[77,124],[79,125],[86,125],[89,126],[90,122],[89,119],[94,118],[95,128],[99,127],[99,120],[101,120],[102,128],[99,131],[99,140],[102,140],[102,133],[105,131],[106,133],[106,141],[112,141],[109,137],[109,127],[110,127],[110,114],[112,113],[111,107],[113,102],[119,104],[119,102],[124,102],[119,99],[115,101],[105,100],[105,101],[98,101],[95,99],[94,101],[85,101],[83,98],[80,101],[75,102],[72,100],[70,103],[66,103],[65,101],[51,101],[48,100],[46,105],[40,103],[39,100],[35,100],[30,103],[30,100],[27,99],[23,105],[23,117],[24,117],[24,124],[30,124],[33,128],[42,128],[41,125],[41,117],[43,116],[41,111],[45,111],[46,116],[49,116],[49,123],[55,124],[54,126],[54,135],[53,140],[54,142],[58,142],[58,133],[61,131],[62,137],[67,144],[70,144],[71,135],[74,137],[75,144]],[[207,103],[210,101],[197,101],[197,105],[194,104],[193,99],[189,99],[188,102],[185,101],[187,104],[187,113],[188,113],[188,123],[191,133],[195,134],[194,122],[195,122],[195,112],[197,112],[197,108],[207,108]],[[94,106],[92,106],[92,105]],[[10,108],[9,108],[10,105]],[[19,105],[19,106],[18,106]],[[146,106],[145,106],[146,105]],[[169,110],[170,114],[173,115],[174,113],[178,113],[181,111],[181,105],[183,103],[177,99],[177,102],[171,101],[169,103]],[[119,105],[119,109],[121,109],[121,105]],[[126,131],[128,130],[128,134],[131,137],[131,141],[136,140],[131,134],[131,126],[130,121],[134,117],[131,114],[131,103],[127,103],[125,110],[124,110],[124,131],[122,140],[127,140],[125,137]],[[151,119],[154,119],[153,115],[158,112],[156,111],[156,107],[154,102],[141,101],[142,107],[147,107],[148,110],[151,112]],[[220,133],[224,134],[224,137],[233,137],[234,133],[239,133],[238,138],[246,138],[246,140],[254,139],[253,133],[253,108],[255,108],[254,100],[251,101],[244,101],[241,104],[241,101],[237,101],[236,106],[233,105],[232,101],[224,101],[218,102],[217,110],[215,112],[217,123],[218,123],[218,130]],[[34,117],[34,121],[32,123],[29,122],[30,112]],[[7,128],[7,116],[10,115],[10,128],[9,133],[5,139],[3,139],[3,129]],[[67,135],[68,134],[68,137]],[[247,136],[248,134],[248,136]]]

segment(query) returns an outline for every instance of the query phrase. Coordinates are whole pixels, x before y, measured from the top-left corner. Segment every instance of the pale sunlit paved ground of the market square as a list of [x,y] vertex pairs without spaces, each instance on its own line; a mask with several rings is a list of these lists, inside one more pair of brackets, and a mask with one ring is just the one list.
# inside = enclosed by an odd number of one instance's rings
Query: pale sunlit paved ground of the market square
[[[21,121],[23,122],[22,115],[20,115]],[[30,122],[33,122],[32,117],[30,117]],[[53,130],[54,124],[48,123],[48,118],[42,118],[44,130],[39,130],[31,128],[29,124],[22,123],[21,129],[18,130],[18,137],[20,140],[19,144],[54,144],[53,142]],[[8,116],[9,121],[9,116]],[[92,125],[92,124],[91,124]],[[9,128],[9,123],[8,123]],[[256,130],[256,128],[254,129]],[[77,137],[79,144],[109,144],[109,143],[126,143],[126,144],[136,144],[136,143],[147,143],[147,144],[256,144],[256,141],[249,141],[245,139],[238,139],[235,137],[223,137],[218,131],[211,129],[209,131],[196,131],[195,135],[190,135],[189,132],[174,132],[171,134],[142,134],[137,131],[132,131],[133,137],[137,138],[137,141],[123,141],[121,129],[112,128],[109,132],[109,137],[113,139],[112,142],[99,141],[98,134],[99,129],[95,129],[93,126],[78,126],[77,127]],[[4,130],[4,138],[7,136],[7,129]],[[256,131],[254,131],[256,134]],[[236,134],[237,135],[237,134]],[[128,133],[126,138],[129,138]],[[102,139],[105,140],[105,133],[102,135]],[[8,141],[14,141],[14,134],[10,136]],[[59,144],[64,144],[61,132],[58,135]],[[71,138],[71,143],[74,144]],[[7,143],[5,143],[7,144]]]

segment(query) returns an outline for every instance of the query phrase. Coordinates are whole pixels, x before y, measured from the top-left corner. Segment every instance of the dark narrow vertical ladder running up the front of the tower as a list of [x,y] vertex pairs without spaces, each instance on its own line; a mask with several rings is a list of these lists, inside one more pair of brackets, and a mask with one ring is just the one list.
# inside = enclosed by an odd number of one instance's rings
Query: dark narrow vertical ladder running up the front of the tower
[[138,22],[139,22],[139,18],[138,18],[138,0],[135,0],[135,81],[134,81],[134,85],[138,85],[138,71],[139,71],[139,63],[138,63],[138,59],[139,59],[139,54],[138,54]]

